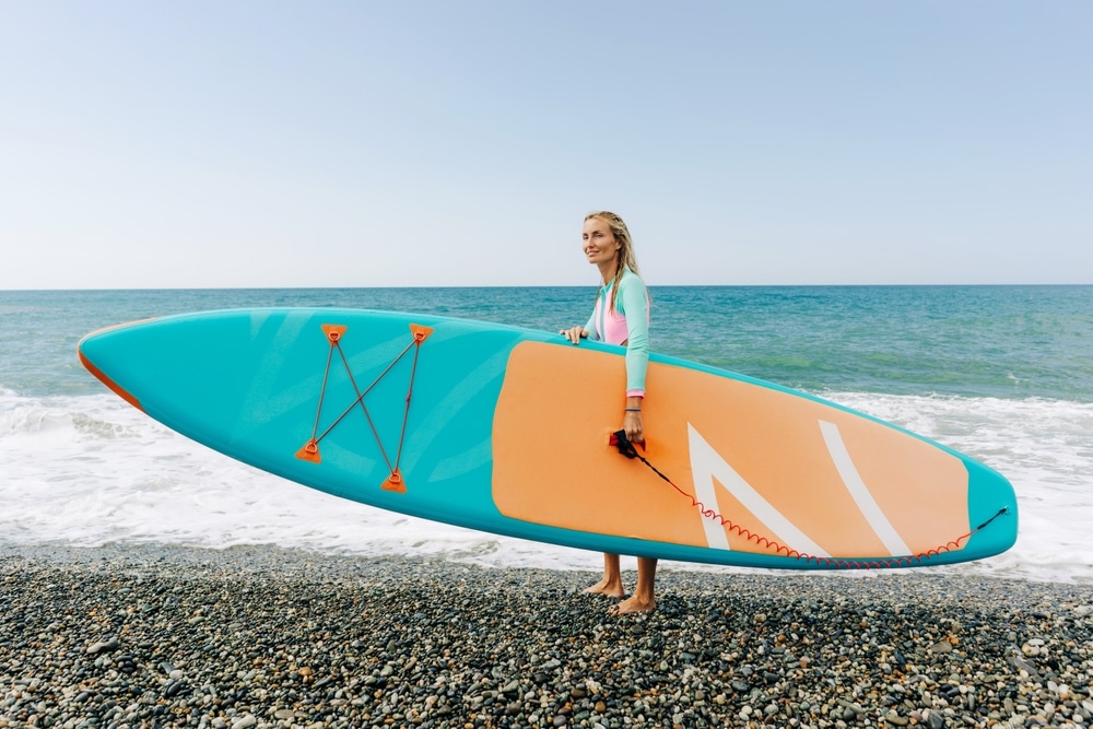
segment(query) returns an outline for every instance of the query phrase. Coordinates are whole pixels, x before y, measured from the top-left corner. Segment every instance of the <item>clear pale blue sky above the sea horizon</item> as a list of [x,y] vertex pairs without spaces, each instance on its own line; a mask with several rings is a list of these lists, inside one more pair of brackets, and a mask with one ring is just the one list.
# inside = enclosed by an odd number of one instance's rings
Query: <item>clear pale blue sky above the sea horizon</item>
[[1093,3],[0,0],[0,290],[1093,283]]

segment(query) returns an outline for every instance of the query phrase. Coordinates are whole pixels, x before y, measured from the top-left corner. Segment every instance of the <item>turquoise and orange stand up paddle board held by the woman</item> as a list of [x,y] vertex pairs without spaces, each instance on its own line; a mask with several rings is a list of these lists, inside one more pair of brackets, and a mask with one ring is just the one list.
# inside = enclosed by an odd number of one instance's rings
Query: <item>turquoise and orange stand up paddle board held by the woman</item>
[[796,569],[964,562],[1016,539],[1013,489],[983,463],[820,398],[658,354],[642,450],[611,438],[625,350],[548,332],[236,309],[121,325],[79,353],[129,403],[227,456],[500,534]]

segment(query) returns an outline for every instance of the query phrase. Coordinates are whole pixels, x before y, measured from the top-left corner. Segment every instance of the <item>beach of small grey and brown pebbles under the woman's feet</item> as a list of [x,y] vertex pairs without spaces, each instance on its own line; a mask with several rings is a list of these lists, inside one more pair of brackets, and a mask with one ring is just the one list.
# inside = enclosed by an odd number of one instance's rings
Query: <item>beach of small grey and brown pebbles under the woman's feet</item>
[[[0,548],[0,728],[1033,727],[1093,719],[1093,587]],[[627,575],[633,585],[634,575]]]

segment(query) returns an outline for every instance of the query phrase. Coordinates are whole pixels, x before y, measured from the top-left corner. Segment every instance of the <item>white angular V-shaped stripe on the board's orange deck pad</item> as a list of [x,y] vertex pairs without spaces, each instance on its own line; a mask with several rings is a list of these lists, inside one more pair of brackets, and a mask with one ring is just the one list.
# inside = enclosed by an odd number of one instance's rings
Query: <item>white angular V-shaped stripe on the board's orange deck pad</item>
[[[702,437],[691,423],[687,423],[686,427],[687,443],[691,448],[691,479],[694,481],[695,494],[707,508],[720,513],[720,508],[717,506],[717,494],[714,490],[714,479],[716,478],[729,493],[736,496],[737,501],[743,504],[744,508],[754,514],[771,530],[769,538],[777,540],[783,546],[812,556],[831,556],[744,481],[743,477],[737,473],[736,469],[714,450],[714,447]],[[728,538],[720,521],[703,517],[702,524],[710,548],[729,549]],[[756,531],[756,529],[753,528],[751,531]]]

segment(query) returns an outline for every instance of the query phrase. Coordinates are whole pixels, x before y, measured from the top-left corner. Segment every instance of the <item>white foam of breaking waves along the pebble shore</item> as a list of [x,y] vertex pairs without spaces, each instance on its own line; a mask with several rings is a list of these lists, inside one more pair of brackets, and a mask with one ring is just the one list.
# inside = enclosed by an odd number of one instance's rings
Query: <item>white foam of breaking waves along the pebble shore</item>
[[[1093,404],[824,396],[966,452],[1013,483],[1021,514],[1016,545],[990,560],[938,569],[1093,581],[1084,526],[1093,520]],[[109,393],[0,392],[0,540],[23,544],[270,543],[363,555],[444,554],[491,566],[599,566],[589,552],[424,521],[312,491],[177,435]]]

